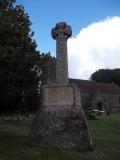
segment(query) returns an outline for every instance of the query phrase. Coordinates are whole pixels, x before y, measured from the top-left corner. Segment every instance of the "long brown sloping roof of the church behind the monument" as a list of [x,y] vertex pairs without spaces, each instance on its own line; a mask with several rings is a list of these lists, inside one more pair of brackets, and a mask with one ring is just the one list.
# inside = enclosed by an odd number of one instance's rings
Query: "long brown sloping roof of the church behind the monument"
[[69,79],[69,82],[79,86],[81,93],[94,94],[99,91],[103,94],[120,95],[120,88],[114,83],[98,83],[81,79]]

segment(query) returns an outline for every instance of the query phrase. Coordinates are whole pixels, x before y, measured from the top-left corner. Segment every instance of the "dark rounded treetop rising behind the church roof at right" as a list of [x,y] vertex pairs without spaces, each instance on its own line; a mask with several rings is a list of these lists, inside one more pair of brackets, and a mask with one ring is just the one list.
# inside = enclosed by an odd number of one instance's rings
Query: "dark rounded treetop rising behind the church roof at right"
[[120,69],[100,69],[91,75],[91,80],[104,83],[115,83],[120,86]]

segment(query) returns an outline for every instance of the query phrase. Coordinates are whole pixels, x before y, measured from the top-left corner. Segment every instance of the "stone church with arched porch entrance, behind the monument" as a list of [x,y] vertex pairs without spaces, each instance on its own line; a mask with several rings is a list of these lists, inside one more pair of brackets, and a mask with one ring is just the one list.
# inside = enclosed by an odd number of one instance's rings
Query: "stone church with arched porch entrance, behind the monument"
[[114,83],[97,83],[80,79],[69,79],[69,82],[80,88],[85,111],[94,109],[109,113],[120,110],[120,88]]

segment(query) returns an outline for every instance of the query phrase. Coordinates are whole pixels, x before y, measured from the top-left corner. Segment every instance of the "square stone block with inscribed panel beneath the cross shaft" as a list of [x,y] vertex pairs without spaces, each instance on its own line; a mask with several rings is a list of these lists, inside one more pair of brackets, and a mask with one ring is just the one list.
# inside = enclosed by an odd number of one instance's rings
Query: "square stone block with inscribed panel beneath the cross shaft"
[[66,107],[81,105],[80,92],[75,85],[43,87],[43,106]]

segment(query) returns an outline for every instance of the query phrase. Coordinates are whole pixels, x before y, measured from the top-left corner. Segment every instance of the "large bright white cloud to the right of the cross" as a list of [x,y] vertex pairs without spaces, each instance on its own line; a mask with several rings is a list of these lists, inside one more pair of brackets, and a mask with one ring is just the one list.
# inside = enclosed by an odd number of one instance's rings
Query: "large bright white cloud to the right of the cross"
[[89,79],[101,68],[120,68],[120,17],[83,28],[68,40],[69,77]]

